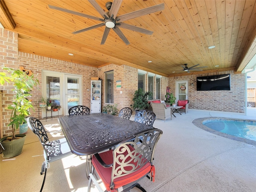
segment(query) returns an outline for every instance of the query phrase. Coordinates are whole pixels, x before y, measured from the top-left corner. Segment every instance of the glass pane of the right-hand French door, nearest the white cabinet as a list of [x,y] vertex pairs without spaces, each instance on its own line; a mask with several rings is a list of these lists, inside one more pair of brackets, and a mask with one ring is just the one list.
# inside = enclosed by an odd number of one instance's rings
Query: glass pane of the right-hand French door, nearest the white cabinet
[[77,78],[67,78],[68,110],[79,105],[79,82]]

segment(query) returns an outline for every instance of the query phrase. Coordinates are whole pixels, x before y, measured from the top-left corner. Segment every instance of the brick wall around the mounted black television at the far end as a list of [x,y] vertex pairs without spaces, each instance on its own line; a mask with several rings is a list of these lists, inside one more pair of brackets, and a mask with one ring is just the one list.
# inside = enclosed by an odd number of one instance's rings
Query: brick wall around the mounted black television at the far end
[[[210,76],[219,74],[231,74],[230,91],[196,91],[197,76]],[[200,75],[170,77],[169,85],[172,93],[176,94],[176,81],[181,80],[188,80],[188,99],[190,100],[188,108],[244,113],[245,74],[234,74],[234,71],[224,71]],[[192,83],[194,86],[191,86]]]

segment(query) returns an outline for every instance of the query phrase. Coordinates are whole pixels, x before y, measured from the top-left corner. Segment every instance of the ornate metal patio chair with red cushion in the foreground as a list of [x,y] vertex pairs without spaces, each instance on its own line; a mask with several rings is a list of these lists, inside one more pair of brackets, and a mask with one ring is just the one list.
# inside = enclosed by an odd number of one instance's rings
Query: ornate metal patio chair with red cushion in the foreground
[[[127,138],[113,150],[94,154],[88,192],[92,182],[101,192],[104,190],[100,187],[100,182],[104,184],[105,192],[128,192],[135,186],[145,192],[138,181],[148,177],[154,182],[153,156],[161,135],[162,130],[153,128]],[[94,177],[94,171],[101,181]]]

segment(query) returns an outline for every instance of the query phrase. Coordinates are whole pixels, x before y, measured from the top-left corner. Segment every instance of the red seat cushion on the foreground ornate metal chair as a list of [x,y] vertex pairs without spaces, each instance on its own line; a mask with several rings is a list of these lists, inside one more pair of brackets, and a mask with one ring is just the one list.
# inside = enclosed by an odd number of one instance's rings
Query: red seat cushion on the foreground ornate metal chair
[[[129,146],[129,148],[131,148],[131,150],[132,149],[134,150],[134,148],[132,148],[132,146],[130,146],[130,145],[128,145],[128,146]],[[102,160],[106,164],[113,163],[113,150],[109,150],[107,152],[100,153],[99,155],[100,155],[100,158],[102,158]],[[129,160],[130,159],[127,159],[126,162]],[[136,162],[134,162],[134,164],[135,163]],[[92,156],[92,164],[93,164],[94,168],[96,169],[98,175],[102,179],[102,182],[104,183],[104,186],[106,187],[106,189],[108,191],[111,191],[110,183],[111,183],[112,167],[110,167],[110,168],[103,167],[98,162],[98,160],[95,158],[95,156]],[[132,174],[128,174],[126,176],[122,176],[122,177],[114,179],[114,184],[115,184],[114,189],[117,189],[121,186],[124,186],[131,182],[134,182],[134,181],[138,180],[139,178],[142,178],[143,176],[147,175],[150,172],[151,168],[152,168],[152,166],[151,166],[150,162],[148,162],[146,165],[144,165],[139,170],[133,172]],[[126,167],[126,170],[127,170],[127,167]]]

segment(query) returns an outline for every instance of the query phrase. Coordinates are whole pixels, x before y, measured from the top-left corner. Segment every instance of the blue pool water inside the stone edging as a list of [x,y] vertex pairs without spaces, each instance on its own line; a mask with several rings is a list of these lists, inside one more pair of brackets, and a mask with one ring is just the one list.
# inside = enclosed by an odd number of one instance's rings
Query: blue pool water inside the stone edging
[[256,141],[255,121],[210,119],[203,124],[218,132]]

